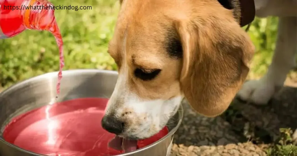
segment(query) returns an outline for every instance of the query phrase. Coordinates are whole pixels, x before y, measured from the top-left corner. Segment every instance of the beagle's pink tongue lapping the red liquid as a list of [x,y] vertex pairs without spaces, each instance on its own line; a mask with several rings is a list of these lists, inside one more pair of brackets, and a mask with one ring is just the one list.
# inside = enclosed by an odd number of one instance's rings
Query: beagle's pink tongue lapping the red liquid
[[119,151],[132,152],[137,149],[137,141],[127,140],[116,136],[109,142],[108,146]]

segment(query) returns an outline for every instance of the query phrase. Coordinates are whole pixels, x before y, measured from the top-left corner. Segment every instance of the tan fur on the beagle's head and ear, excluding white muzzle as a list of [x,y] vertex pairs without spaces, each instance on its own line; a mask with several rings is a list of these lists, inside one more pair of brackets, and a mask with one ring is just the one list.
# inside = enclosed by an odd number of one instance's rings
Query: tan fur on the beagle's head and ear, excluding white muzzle
[[[125,0],[109,53],[127,68],[128,89],[141,99],[184,95],[192,108],[217,116],[230,105],[247,73],[254,46],[217,0]],[[164,48],[168,30],[183,46],[183,59]],[[151,81],[136,78],[138,68],[161,69]],[[124,89],[124,88],[123,88]]]

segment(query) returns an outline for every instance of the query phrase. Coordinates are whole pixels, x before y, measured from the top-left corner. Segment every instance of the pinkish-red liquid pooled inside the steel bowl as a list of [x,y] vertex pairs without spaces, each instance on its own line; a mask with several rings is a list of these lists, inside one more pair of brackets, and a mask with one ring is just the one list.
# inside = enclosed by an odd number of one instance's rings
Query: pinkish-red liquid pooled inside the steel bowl
[[[10,122],[3,138],[22,149],[50,156],[119,155],[108,147],[115,135],[101,127],[108,102],[105,98],[80,98],[47,105]],[[142,148],[168,134],[164,127],[151,138],[138,141]]]

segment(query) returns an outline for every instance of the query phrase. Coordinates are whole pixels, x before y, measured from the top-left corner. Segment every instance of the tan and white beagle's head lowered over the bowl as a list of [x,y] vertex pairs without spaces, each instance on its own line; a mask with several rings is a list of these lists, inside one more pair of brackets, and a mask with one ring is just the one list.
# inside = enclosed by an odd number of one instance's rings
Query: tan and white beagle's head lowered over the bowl
[[184,97],[204,116],[224,112],[249,72],[254,46],[217,0],[124,0],[109,53],[119,77],[102,126],[148,138]]

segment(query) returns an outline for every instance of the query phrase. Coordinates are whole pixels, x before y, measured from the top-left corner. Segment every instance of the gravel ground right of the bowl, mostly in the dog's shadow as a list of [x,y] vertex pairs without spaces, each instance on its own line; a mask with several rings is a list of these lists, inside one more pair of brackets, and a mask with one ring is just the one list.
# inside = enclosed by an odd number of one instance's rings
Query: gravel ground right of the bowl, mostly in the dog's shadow
[[171,156],[265,156],[266,143],[279,136],[279,128],[297,128],[296,95],[296,88],[284,87],[261,107],[234,100],[234,114],[227,111],[229,115],[215,118],[196,114],[184,101],[184,119],[174,135]]

